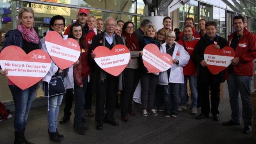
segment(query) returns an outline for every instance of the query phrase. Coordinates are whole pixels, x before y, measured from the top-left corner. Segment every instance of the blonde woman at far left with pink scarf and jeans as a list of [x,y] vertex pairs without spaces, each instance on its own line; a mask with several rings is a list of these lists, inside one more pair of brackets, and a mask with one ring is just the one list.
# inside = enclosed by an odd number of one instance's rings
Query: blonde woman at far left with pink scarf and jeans
[[[34,24],[34,11],[30,7],[22,7],[18,12],[18,25],[17,29],[9,31],[5,34],[5,41],[3,49],[6,46],[15,45],[22,48],[26,54],[35,49],[39,49],[39,39],[36,31],[33,28]],[[2,70],[0,67],[0,73],[7,76],[8,71]],[[10,80],[8,85],[12,93],[12,98],[15,104],[15,117],[14,117],[14,129],[15,140],[14,143],[26,143],[30,144],[25,139],[24,132],[27,124],[27,117],[30,111],[31,103],[36,95],[37,83],[25,90],[20,89]]]

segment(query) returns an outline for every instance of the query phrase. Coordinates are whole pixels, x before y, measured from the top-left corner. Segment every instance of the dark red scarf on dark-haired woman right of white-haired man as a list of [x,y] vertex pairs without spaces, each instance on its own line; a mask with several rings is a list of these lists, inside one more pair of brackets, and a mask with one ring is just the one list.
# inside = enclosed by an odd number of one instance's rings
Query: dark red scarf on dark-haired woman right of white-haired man
[[126,46],[132,50],[132,51],[138,51],[139,50],[139,44],[137,42],[135,34],[128,34],[127,32],[124,32],[123,37],[126,38]]

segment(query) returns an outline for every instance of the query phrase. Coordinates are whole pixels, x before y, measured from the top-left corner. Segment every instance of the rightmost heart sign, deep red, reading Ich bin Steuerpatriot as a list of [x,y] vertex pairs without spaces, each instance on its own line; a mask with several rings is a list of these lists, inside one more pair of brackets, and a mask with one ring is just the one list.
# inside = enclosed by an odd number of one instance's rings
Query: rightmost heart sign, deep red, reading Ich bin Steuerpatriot
[[235,51],[229,46],[222,49],[215,49],[211,44],[204,50],[204,61],[207,63],[207,68],[212,74],[217,74],[223,71],[234,59]]

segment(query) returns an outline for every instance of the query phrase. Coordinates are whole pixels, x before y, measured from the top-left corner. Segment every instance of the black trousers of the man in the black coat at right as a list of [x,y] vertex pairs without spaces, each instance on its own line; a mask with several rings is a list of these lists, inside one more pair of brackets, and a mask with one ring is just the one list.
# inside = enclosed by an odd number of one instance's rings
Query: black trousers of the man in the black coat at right
[[219,86],[220,83],[217,84],[209,84],[209,83],[200,83],[202,87],[202,113],[204,115],[209,115],[210,112],[210,102],[209,102],[209,90],[211,90],[211,112],[212,115],[219,114]]

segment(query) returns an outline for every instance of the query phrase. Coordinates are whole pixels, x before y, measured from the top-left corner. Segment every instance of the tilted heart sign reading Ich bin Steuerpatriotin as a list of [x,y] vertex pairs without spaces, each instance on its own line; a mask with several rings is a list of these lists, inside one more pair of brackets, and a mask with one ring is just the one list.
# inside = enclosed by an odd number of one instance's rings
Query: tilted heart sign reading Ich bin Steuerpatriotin
[[64,40],[62,36],[50,31],[45,36],[45,45],[49,55],[59,68],[72,66],[79,58],[81,49],[75,39]]

